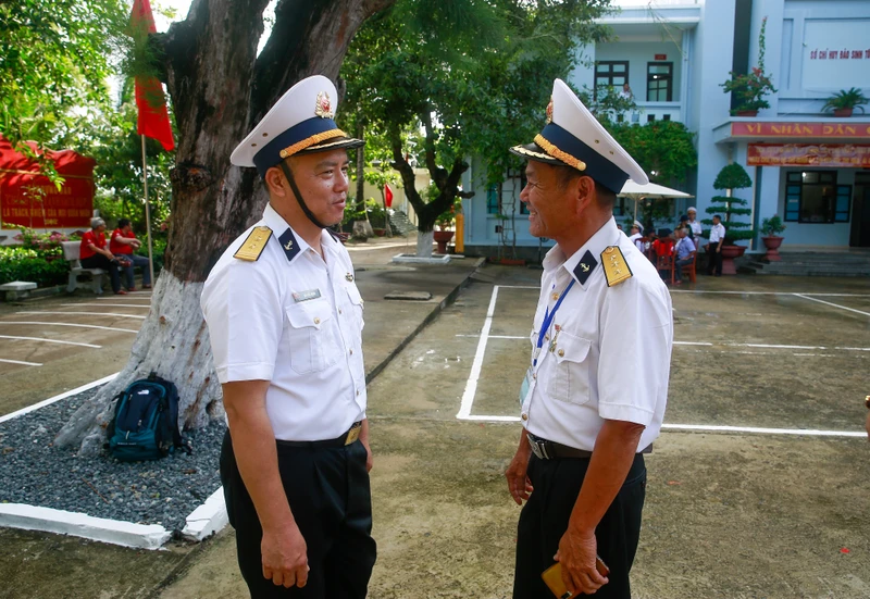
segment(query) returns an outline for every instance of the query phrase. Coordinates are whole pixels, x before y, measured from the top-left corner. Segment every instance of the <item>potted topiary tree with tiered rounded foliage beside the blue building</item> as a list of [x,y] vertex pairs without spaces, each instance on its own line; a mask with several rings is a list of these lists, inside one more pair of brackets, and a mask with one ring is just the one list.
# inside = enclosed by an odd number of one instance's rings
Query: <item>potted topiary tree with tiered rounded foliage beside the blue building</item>
[[[745,189],[753,186],[753,179],[746,173],[743,166],[736,162],[722,167],[713,182],[713,188],[724,190],[724,196],[713,196],[710,198],[710,205],[707,208],[707,214],[724,214],[722,224],[725,226],[725,240],[722,244],[722,274],[734,275],[737,274],[737,269],[734,266],[734,259],[743,255],[746,251],[745,246],[736,246],[734,242],[741,239],[751,239],[753,229],[749,223],[737,221],[737,216],[747,216],[751,214],[751,210],[745,208],[748,203],[742,198],[733,195],[735,189]],[[712,219],[705,219],[701,221],[705,225],[712,225]],[[706,233],[709,237],[709,232]]]

